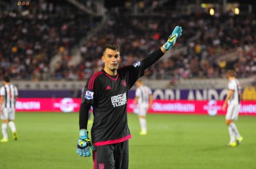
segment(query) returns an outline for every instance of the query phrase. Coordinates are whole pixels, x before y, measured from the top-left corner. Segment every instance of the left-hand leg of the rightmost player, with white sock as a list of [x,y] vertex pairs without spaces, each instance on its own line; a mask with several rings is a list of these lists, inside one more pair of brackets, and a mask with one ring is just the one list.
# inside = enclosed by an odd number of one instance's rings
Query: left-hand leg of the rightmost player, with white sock
[[226,125],[228,125],[228,132],[230,135],[230,142],[228,143],[228,146],[235,147],[236,146],[236,139],[235,139],[235,133],[232,129],[232,125],[230,123],[233,122],[234,117],[234,105],[228,105],[228,111],[226,113]]

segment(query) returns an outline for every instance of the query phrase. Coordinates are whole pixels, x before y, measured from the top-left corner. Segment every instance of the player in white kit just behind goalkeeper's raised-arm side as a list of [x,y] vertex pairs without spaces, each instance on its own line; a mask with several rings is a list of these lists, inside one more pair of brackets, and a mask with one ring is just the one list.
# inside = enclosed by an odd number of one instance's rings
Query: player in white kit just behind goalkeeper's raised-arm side
[[146,122],[146,114],[148,108],[152,109],[152,91],[149,87],[143,84],[141,79],[137,80],[136,82],[137,89],[135,92],[135,101],[134,104],[138,105],[138,116],[139,116],[139,123],[141,126],[141,131],[139,135],[146,135],[147,134],[147,122]]

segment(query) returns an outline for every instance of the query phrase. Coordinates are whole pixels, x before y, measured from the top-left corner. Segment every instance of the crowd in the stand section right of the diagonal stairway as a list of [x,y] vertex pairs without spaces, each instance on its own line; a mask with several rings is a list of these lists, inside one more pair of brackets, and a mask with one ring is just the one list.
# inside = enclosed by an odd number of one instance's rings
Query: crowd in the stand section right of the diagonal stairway
[[[218,78],[225,68],[236,68],[238,77],[256,72],[255,16],[220,15],[162,15],[158,17],[118,16],[110,19],[100,34],[82,46],[85,72],[102,68],[100,60],[105,43],[121,46],[123,64],[133,64],[164,44],[170,27],[184,27],[183,36],[175,49],[184,48],[171,58],[161,60],[146,72],[148,78]],[[189,39],[198,36],[191,42]],[[234,53],[232,60],[226,54]],[[223,59],[221,59],[223,57]],[[221,62],[218,60],[221,59]],[[94,60],[90,64],[90,60]]]

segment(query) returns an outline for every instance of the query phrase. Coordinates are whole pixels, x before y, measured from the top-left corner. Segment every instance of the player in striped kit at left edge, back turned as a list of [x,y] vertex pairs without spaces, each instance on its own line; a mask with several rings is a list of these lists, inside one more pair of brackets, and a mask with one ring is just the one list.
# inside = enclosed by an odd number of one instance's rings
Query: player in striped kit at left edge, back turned
[[18,135],[16,127],[13,122],[15,119],[15,102],[18,98],[18,89],[10,83],[8,76],[3,77],[3,87],[0,89],[0,106],[1,106],[1,119],[2,119],[2,133],[3,139],[1,143],[8,142],[7,125],[11,128],[13,139],[17,140]]

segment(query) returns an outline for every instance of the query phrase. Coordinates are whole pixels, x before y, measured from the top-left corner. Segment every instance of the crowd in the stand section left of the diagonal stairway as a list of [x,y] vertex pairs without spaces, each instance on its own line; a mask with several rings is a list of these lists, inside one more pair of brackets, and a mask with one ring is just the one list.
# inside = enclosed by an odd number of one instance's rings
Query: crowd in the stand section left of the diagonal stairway
[[[0,76],[49,80],[65,74],[71,48],[100,21],[75,7],[54,6],[46,1],[36,5],[0,13]],[[52,75],[49,64],[56,54],[63,62]]]

